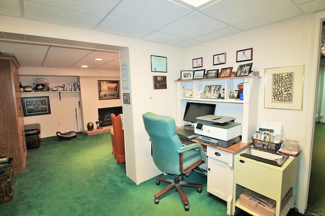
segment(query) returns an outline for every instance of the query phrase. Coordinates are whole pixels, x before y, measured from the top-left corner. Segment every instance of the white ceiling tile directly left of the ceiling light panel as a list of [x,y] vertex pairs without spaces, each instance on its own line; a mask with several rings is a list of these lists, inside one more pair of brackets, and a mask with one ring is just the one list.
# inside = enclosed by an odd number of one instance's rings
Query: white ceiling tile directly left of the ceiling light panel
[[190,12],[166,0],[124,0],[107,19],[157,30]]

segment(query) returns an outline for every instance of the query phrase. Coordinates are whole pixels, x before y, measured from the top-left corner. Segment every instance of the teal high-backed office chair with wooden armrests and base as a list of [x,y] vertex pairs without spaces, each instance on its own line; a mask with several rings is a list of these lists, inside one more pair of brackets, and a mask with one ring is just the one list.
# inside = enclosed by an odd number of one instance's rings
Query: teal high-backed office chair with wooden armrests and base
[[[202,192],[202,184],[180,182],[182,176],[189,175],[191,170],[205,163],[203,147],[200,143],[183,146],[176,134],[176,124],[172,117],[160,116],[153,113],[142,115],[144,126],[151,141],[151,155],[153,162],[161,171],[174,175],[174,179],[157,177],[156,185],[160,182],[168,183],[166,188],[154,195],[155,203],[159,203],[159,197],[176,188],[180,194],[185,210],[189,210],[188,199],[182,187],[197,188]],[[197,151],[198,149],[199,151]]]

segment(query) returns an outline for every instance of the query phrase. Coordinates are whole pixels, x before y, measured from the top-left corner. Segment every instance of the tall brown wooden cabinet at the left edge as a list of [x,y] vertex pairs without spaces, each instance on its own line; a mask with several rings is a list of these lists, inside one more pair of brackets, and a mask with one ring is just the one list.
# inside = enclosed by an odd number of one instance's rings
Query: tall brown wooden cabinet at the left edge
[[13,158],[15,173],[25,171],[27,157],[19,67],[15,57],[0,56],[0,156]]

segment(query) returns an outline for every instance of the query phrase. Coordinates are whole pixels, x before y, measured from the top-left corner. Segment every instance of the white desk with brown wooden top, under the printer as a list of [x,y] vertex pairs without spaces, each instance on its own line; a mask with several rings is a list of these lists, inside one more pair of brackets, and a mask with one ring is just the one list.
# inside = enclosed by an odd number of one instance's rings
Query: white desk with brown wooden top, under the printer
[[[227,213],[232,214],[233,183],[234,183],[234,156],[248,148],[251,143],[238,142],[223,148],[215,147],[197,139],[193,142],[201,143],[207,152],[207,191],[227,202]],[[187,144],[187,143],[185,143]]]

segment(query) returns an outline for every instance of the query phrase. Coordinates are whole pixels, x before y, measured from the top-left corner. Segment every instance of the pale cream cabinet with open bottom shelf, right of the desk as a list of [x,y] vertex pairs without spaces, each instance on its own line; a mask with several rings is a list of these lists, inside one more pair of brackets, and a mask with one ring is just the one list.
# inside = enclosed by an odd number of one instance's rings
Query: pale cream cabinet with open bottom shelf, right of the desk
[[281,167],[258,162],[245,158],[237,154],[234,157],[234,188],[233,188],[233,208],[234,215],[236,206],[252,215],[255,212],[245,208],[239,203],[239,195],[244,188],[262,194],[276,201],[275,215],[286,215],[290,207],[296,202],[296,196],[292,196],[280,212],[280,202],[286,192],[293,187],[298,178],[299,172],[298,157],[288,158]]

